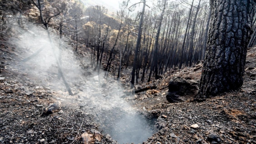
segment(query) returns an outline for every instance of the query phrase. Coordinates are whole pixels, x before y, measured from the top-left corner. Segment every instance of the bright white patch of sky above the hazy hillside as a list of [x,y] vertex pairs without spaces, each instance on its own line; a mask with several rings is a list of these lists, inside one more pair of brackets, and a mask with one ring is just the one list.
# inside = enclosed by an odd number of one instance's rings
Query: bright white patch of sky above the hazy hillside
[[116,12],[119,10],[119,2],[121,0],[81,0],[86,7],[101,5],[105,6],[109,12]]

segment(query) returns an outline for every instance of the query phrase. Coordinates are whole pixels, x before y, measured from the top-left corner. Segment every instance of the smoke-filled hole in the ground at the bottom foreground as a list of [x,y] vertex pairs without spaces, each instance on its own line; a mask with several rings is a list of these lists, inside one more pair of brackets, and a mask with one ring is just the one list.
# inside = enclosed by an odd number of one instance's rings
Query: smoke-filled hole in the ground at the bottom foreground
[[[117,115],[115,115],[117,116]],[[120,144],[142,143],[147,141],[156,131],[156,117],[142,114],[128,114],[107,116],[104,124],[100,126],[102,133],[110,136]]]

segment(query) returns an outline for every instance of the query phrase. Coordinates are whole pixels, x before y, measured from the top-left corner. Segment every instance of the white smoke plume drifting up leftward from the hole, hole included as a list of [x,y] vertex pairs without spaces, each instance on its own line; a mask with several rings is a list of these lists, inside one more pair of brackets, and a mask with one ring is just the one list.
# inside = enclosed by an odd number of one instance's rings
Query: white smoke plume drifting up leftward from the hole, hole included
[[[72,46],[64,42],[65,38],[60,40],[52,30],[51,43],[47,31],[31,23],[25,24],[25,28],[13,25],[12,29],[16,35],[9,43],[15,46],[17,57],[10,67],[17,76],[23,76],[24,86],[53,90],[52,101],[61,106],[93,106],[99,128],[120,143],[141,143],[156,132],[156,119],[133,110],[122,98],[124,89],[117,81],[104,79],[104,72],[95,78],[97,72],[81,68],[81,62],[90,67],[91,61],[78,59]],[[73,96],[68,94],[59,75],[57,60]]]

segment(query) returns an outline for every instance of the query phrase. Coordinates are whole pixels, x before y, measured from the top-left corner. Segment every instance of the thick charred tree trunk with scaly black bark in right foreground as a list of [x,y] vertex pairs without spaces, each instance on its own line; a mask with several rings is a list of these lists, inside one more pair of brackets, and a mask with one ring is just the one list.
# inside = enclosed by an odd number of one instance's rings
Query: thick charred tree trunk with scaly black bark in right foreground
[[198,98],[239,89],[252,34],[253,0],[212,0],[212,16]]

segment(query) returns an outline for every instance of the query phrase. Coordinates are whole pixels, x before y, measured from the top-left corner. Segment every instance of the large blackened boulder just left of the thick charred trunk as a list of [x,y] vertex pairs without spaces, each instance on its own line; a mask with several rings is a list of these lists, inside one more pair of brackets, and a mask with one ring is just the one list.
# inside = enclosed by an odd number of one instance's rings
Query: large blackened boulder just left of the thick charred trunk
[[197,92],[198,83],[196,81],[184,79],[181,77],[175,77],[169,82],[166,99],[171,103],[181,102],[187,99],[194,98]]

